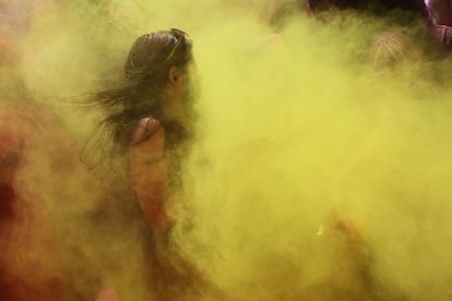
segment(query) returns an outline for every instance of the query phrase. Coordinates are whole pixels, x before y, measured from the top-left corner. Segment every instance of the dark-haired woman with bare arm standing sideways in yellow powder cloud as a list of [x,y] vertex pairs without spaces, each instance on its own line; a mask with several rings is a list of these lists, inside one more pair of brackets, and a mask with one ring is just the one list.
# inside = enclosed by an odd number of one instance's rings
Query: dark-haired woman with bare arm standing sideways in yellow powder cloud
[[[130,49],[121,83],[94,98],[107,113],[102,123],[115,149],[126,158],[131,186],[151,226],[144,238],[146,274],[159,300],[178,299],[178,286],[194,287],[200,279],[171,251],[169,239],[182,206],[182,160],[194,134],[191,48],[187,34],[179,29],[139,37]],[[103,296],[111,293],[102,292],[98,300]]]

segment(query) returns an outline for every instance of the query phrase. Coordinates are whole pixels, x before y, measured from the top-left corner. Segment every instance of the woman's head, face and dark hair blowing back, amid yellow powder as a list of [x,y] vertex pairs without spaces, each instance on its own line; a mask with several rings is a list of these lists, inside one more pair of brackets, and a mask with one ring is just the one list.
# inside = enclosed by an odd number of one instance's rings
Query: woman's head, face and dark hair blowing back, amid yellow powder
[[121,83],[95,97],[107,109],[104,122],[119,146],[128,146],[143,117],[163,124],[189,118],[191,48],[187,34],[174,28],[142,35],[133,43]]

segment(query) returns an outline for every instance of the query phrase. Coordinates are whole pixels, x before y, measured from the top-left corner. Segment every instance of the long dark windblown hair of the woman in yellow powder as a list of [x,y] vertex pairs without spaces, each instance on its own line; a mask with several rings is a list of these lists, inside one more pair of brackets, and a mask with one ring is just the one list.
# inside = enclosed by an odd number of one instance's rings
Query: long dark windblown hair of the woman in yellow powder
[[[168,83],[171,67],[185,69],[192,60],[192,44],[180,29],[160,31],[140,36],[132,45],[123,68],[123,75],[117,82],[90,97],[88,104],[104,110],[106,117],[92,133],[82,152],[82,159],[124,150],[138,121],[143,117],[165,123],[162,112],[162,97]],[[168,124],[170,127],[171,124]],[[107,144],[110,145],[106,147]],[[112,147],[112,148],[109,148]],[[100,150],[100,152],[99,152]],[[102,158],[94,158],[94,165]]]

